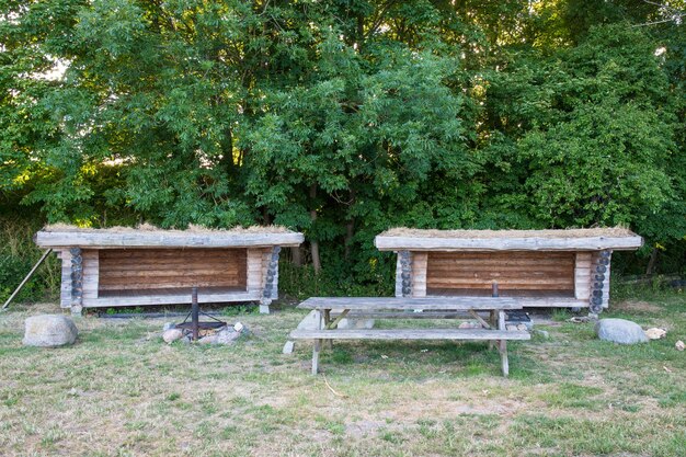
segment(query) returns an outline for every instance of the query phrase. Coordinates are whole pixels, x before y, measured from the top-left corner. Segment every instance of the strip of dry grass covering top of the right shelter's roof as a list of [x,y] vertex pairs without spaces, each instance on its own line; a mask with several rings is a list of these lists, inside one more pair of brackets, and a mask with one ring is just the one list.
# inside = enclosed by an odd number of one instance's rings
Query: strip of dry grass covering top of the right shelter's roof
[[588,237],[636,237],[631,230],[624,227],[563,229],[563,230],[433,230],[411,229],[404,227],[392,228],[379,237],[410,237],[410,238],[588,238]]

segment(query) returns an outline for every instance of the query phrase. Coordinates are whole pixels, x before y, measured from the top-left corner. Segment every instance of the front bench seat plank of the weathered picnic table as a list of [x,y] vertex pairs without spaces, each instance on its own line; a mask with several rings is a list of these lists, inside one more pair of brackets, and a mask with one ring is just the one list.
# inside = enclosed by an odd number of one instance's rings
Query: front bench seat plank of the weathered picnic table
[[485,329],[294,330],[296,340],[530,340],[524,331]]

